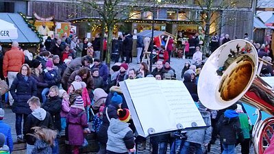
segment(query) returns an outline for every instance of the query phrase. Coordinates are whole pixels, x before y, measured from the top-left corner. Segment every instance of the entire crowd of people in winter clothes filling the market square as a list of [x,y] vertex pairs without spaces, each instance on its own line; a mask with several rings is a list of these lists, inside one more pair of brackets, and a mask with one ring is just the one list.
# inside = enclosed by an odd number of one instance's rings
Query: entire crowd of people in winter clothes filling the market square
[[[226,36],[223,42],[225,39]],[[12,42],[12,49],[3,55],[3,77],[10,86],[8,103],[16,114],[17,141],[27,142],[27,154],[59,153],[60,136],[65,136],[66,144],[73,146],[73,153],[79,153],[87,142],[85,134],[90,132],[97,134],[99,154],[134,153],[135,143],[140,144],[136,147],[139,150],[146,149],[146,138],[134,138],[136,129],[119,81],[142,77],[177,79],[170,63],[171,54],[164,46],[157,47],[156,67],[150,72],[147,63],[141,62],[140,54],[137,57],[140,68],[129,68],[132,35],[119,36],[113,40],[112,47],[115,64],[108,68],[100,60],[104,53],[100,53],[99,35],[92,43],[84,39],[82,44],[73,34],[48,38],[36,56],[19,49],[18,42]],[[139,44],[138,48],[143,45]],[[199,45],[193,49],[193,61],[201,62]],[[272,53],[267,46],[260,52],[269,53],[262,58],[272,61],[267,59]],[[151,153],[166,153],[168,144],[170,153],[207,153],[217,136],[223,154],[234,153],[239,143],[242,153],[249,153],[251,123],[245,108],[241,103],[219,111],[203,106],[197,93],[201,69],[201,63],[186,62],[181,77],[208,127],[153,136]],[[272,70],[271,73],[273,75]],[[3,117],[4,110],[0,109],[0,132],[3,133],[0,133],[0,151],[12,153],[11,129],[3,123]]]

